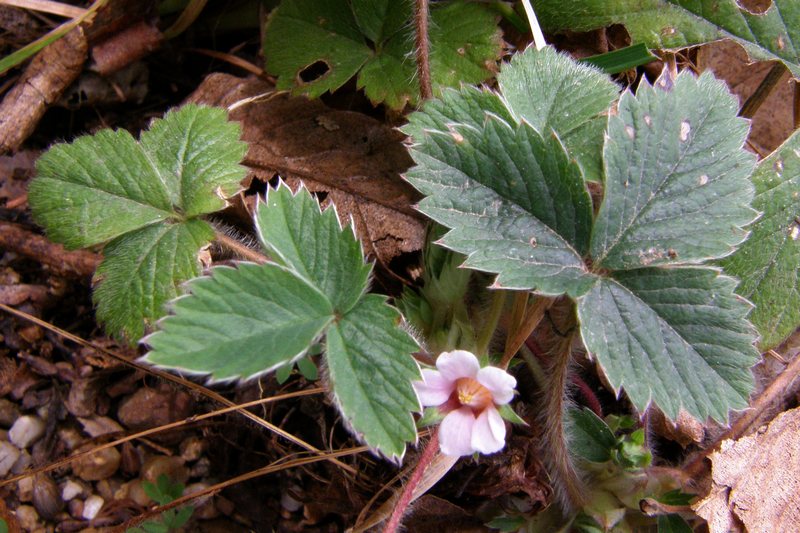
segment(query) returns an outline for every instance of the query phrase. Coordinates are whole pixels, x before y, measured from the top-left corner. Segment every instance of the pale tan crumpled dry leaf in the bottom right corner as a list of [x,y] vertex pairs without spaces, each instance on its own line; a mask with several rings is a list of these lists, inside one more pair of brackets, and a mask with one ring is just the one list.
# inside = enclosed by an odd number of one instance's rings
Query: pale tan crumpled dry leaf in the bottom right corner
[[710,459],[712,488],[692,507],[711,533],[800,531],[800,408]]

